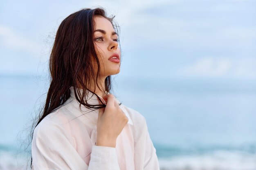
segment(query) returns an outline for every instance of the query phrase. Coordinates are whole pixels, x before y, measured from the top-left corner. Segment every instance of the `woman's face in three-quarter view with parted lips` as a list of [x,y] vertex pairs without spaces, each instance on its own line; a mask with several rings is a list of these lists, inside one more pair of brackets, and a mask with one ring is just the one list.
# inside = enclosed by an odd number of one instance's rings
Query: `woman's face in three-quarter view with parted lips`
[[[94,17],[94,48],[96,50],[101,76],[118,74],[120,71],[121,51],[118,36],[112,24],[101,16]],[[113,58],[114,57],[114,58]]]

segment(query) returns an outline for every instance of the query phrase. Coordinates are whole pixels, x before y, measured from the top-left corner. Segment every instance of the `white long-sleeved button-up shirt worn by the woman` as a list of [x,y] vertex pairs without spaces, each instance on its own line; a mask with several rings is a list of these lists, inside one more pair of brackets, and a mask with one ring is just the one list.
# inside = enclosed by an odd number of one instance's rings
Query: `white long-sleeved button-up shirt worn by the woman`
[[[98,109],[83,105],[80,109],[73,86],[70,91],[64,105],[34,130],[32,170],[159,170],[144,116],[119,105],[128,123],[117,137],[116,147],[96,146]],[[91,92],[89,96],[88,103],[99,104],[97,96]]]

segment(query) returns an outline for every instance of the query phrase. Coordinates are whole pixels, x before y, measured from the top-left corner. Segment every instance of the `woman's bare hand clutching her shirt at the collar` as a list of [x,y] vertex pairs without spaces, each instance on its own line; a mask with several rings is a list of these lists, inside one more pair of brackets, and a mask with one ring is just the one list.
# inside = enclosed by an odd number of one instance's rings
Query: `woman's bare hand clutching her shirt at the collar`
[[99,109],[96,145],[115,148],[117,136],[128,123],[128,118],[119,107],[114,95],[108,94],[103,99],[107,104],[105,108]]

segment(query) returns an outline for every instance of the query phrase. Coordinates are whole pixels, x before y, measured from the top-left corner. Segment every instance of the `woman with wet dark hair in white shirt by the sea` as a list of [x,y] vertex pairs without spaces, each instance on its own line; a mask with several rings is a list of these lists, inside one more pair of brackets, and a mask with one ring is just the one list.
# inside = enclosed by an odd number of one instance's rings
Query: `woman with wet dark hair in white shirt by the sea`
[[110,94],[121,64],[113,18],[102,8],[82,9],[61,22],[32,169],[159,170],[145,118]]

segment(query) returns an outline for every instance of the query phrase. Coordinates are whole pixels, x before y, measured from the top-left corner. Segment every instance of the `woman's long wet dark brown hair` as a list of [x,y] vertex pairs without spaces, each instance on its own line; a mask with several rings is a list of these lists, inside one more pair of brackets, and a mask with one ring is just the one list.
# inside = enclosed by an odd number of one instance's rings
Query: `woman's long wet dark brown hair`
[[[71,86],[74,87],[74,94],[76,100],[80,103],[80,107],[81,105],[88,109],[106,107],[102,102],[101,105],[90,105],[86,98],[88,92],[92,92],[89,89],[92,81],[94,82],[94,89],[96,85],[99,87],[100,64],[94,49],[93,37],[95,16],[105,17],[111,22],[117,35],[119,34],[119,26],[113,21],[115,16],[107,17],[106,11],[102,7],[81,9],[72,13],[61,22],[49,58],[49,90],[45,105],[38,116],[36,126],[49,113],[56,110],[70,98]],[[95,69],[93,63],[96,63],[97,69]],[[78,88],[83,89],[82,94]],[[101,88],[99,87],[99,89]],[[107,76],[104,93],[108,94],[110,89],[111,76]],[[95,90],[92,93],[95,94]],[[99,97],[97,96],[97,98]],[[31,139],[33,139],[35,127],[33,127],[31,132]],[[32,168],[32,157],[30,166]]]

